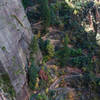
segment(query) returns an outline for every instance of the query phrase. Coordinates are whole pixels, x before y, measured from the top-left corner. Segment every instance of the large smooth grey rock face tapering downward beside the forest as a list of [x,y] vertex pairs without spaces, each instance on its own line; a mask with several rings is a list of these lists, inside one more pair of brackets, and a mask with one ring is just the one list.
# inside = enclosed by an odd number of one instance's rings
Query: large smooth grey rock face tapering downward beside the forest
[[0,75],[8,74],[17,100],[27,96],[25,66],[31,37],[21,0],[0,0]]

